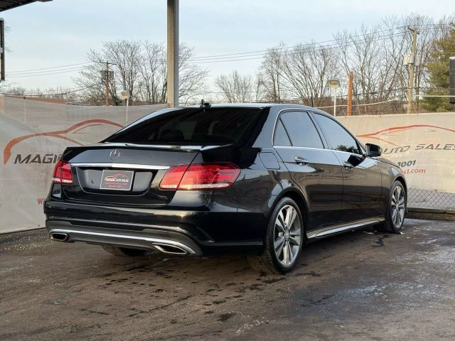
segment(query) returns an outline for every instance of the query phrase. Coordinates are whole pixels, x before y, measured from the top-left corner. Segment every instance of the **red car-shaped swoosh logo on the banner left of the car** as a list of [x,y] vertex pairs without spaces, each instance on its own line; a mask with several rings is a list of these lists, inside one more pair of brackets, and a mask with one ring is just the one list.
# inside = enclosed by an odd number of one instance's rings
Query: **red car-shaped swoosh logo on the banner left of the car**
[[19,137],[16,137],[16,139],[12,139],[11,141],[8,142],[8,144],[6,144],[4,151],[3,151],[3,164],[6,164],[9,160],[9,158],[11,157],[11,148],[13,148],[16,144],[18,144],[19,142],[21,142],[23,140],[30,139],[31,137],[36,137],[36,136],[53,136],[53,137],[57,137],[58,139],[70,141],[70,142],[73,142],[73,144],[82,146],[82,144],[80,142],[70,139],[69,137],[62,136],[62,134],[68,134],[72,131],[79,132],[82,129],[85,129],[89,126],[98,125],[98,124],[110,124],[112,126],[119,126],[120,128],[123,127],[122,125],[115,123],[113,121],[108,121],[107,119],[87,119],[86,121],[80,121],[79,123],[74,124],[73,126],[70,126],[68,129],[65,129],[65,130],[48,131],[45,133],[36,133],[36,134],[29,134],[29,135],[25,135],[25,136],[19,136]]

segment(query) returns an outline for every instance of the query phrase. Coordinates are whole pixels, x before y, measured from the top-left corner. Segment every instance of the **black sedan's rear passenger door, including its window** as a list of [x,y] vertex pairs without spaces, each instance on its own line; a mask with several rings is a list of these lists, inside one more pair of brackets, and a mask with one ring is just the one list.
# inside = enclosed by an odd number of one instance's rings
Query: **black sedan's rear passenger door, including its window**
[[274,148],[292,179],[307,195],[311,229],[337,224],[343,196],[343,174],[338,158],[325,148],[307,112],[282,112],[277,120]]

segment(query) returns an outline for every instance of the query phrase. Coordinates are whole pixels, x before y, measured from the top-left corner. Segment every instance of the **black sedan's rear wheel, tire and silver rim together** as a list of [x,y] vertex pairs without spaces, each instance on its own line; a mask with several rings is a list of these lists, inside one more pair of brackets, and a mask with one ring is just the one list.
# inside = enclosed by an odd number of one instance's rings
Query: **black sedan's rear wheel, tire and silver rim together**
[[299,260],[304,244],[304,220],[299,206],[289,197],[279,200],[267,225],[264,251],[250,256],[253,269],[272,274],[291,271]]

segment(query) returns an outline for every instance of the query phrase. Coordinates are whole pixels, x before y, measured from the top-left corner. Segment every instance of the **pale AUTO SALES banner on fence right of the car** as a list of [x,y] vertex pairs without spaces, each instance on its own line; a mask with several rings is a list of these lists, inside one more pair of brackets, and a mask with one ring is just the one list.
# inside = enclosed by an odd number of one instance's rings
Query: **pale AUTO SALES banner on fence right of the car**
[[363,143],[379,144],[407,185],[455,193],[455,113],[337,117]]

